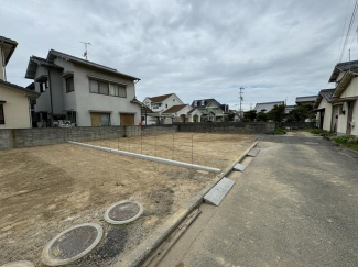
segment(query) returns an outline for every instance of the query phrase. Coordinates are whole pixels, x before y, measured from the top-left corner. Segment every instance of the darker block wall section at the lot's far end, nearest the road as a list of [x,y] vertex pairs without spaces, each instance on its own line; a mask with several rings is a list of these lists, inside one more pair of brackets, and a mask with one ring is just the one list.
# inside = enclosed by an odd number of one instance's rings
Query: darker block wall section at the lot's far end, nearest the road
[[180,132],[204,132],[204,133],[271,133],[275,123],[270,122],[210,122],[210,123],[185,123],[177,124]]

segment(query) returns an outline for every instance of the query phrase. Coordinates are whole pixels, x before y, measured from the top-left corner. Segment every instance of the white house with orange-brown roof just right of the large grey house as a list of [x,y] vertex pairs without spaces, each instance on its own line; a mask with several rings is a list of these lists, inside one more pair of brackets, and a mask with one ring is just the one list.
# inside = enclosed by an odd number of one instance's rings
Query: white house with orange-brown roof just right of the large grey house
[[[169,93],[158,97],[147,97],[143,100],[143,104],[152,110],[153,113],[142,118],[143,124],[160,124],[161,121],[165,120],[165,123],[172,121],[167,115],[163,115],[163,111],[178,104],[184,104],[183,101],[175,94]],[[169,120],[170,119],[170,120]]]

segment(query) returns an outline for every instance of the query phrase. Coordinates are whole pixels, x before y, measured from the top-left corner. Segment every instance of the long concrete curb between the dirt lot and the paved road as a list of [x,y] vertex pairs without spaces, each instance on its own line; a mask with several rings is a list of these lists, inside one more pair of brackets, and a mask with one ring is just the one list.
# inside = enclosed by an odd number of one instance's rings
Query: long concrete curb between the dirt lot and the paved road
[[185,220],[185,218],[202,202],[204,196],[225,176],[227,176],[237,163],[240,163],[246,155],[258,144],[256,141],[240,157],[238,157],[232,165],[227,167],[214,181],[205,187],[197,196],[192,198],[186,204],[184,204],[178,211],[176,211],[167,221],[165,221],[154,233],[152,233],[145,241],[143,241],[134,251],[119,259],[113,267],[138,267],[150,256],[150,254],[156,249]]

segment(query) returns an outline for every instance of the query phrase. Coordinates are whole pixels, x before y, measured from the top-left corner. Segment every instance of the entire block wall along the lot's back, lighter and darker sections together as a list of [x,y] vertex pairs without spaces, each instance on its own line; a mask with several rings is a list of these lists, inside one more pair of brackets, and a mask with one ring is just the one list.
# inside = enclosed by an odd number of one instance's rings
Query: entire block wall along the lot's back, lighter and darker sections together
[[[21,148],[42,145],[54,145],[67,141],[86,142],[101,138],[117,138],[124,136],[143,136],[173,132],[204,132],[204,133],[270,133],[274,123],[185,123],[174,125],[148,126],[108,126],[108,127],[48,127],[48,129],[12,129],[0,130],[0,149]],[[141,133],[142,131],[142,133]]]

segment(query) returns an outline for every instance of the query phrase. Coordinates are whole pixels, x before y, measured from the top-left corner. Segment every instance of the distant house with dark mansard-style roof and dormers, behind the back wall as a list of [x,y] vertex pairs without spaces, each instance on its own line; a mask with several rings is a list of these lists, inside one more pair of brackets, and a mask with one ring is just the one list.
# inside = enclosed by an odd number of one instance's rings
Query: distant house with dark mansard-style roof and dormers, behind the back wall
[[202,112],[202,122],[224,122],[229,112],[229,107],[227,104],[221,105],[213,98],[194,100],[192,107]]

